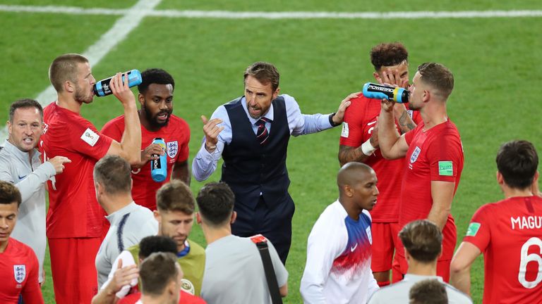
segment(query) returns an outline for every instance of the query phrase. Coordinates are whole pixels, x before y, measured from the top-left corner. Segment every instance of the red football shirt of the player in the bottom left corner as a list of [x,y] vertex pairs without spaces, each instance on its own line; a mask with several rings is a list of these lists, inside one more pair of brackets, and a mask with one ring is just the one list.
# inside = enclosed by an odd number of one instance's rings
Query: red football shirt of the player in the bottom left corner
[[43,303],[38,267],[32,248],[9,238],[6,250],[0,253],[0,303],[17,304],[20,294],[25,303]]

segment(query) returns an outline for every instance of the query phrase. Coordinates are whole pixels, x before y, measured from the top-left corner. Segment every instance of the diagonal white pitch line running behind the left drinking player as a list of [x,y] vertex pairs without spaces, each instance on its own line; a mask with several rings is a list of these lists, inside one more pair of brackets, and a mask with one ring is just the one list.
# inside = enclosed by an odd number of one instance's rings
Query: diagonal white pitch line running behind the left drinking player
[[[91,66],[97,65],[104,56],[111,51],[119,42],[126,39],[128,34],[138,27],[145,15],[150,13],[162,0],[139,0],[137,4],[129,9],[123,10],[124,16],[116,20],[114,25],[102,34],[102,37],[92,44],[82,55],[88,58]],[[5,6],[0,6],[0,11]],[[25,6],[17,6],[25,8]],[[37,6],[35,6],[36,8]],[[27,7],[30,8],[30,7]],[[43,8],[54,8],[54,6],[44,6]],[[28,11],[30,12],[30,11]],[[54,11],[49,11],[53,13]],[[56,100],[56,91],[54,87],[49,86],[47,89],[37,95],[36,100],[42,105],[47,106],[49,103]],[[0,129],[0,145],[4,145],[4,140],[8,135],[7,128]]]

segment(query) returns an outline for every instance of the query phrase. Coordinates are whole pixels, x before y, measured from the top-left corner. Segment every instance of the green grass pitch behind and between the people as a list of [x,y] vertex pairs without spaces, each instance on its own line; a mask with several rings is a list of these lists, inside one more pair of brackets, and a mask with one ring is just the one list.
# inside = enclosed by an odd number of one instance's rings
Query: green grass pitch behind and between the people
[[[131,1],[2,0],[8,5],[129,8]],[[172,1],[157,10],[229,11],[470,11],[540,10],[537,0],[501,1]],[[47,69],[61,53],[83,53],[109,30],[116,15],[67,15],[0,11],[0,119],[8,105],[35,97],[48,85]],[[281,92],[294,96],[303,113],[331,113],[350,92],[373,80],[368,51],[379,42],[403,42],[411,77],[426,61],[447,65],[455,77],[448,112],[462,135],[465,164],[452,205],[458,243],[483,203],[502,198],[495,182],[495,153],[504,141],[527,139],[542,151],[542,18],[262,20],[147,17],[94,67],[100,80],[117,71],[164,68],[176,80],[174,113],[191,126],[191,159],[203,136],[200,115],[243,94],[244,68],[270,61],[281,72]],[[121,115],[113,97],[96,98],[83,115],[100,129]],[[289,296],[301,303],[299,282],[306,240],[318,215],[337,198],[335,175],[339,128],[291,139],[290,194],[296,202],[287,263]],[[211,181],[219,179],[215,172]],[[380,181],[385,182],[385,181]],[[197,193],[203,183],[193,180]],[[397,185],[399,189],[399,185]],[[205,244],[200,227],[191,238]],[[505,262],[505,261],[503,261]],[[54,303],[49,258],[43,286]],[[483,259],[472,270],[472,293],[481,303]]]

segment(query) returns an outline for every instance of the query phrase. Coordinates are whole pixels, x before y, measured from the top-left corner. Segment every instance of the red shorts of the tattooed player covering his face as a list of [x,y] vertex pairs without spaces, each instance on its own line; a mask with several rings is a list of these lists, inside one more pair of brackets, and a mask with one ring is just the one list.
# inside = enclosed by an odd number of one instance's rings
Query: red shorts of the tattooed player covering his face
[[371,251],[371,270],[373,272],[387,272],[392,269],[393,252],[395,251],[396,242],[399,241],[399,223],[397,222],[373,222],[371,224],[371,234],[373,244]]

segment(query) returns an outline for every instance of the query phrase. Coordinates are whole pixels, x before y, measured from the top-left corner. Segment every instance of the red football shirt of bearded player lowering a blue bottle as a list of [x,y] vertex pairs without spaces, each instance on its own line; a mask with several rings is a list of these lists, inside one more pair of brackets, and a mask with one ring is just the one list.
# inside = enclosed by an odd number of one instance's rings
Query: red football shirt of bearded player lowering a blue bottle
[[[107,122],[102,128],[102,134],[120,141],[124,133],[124,115]],[[150,132],[141,125],[141,150],[152,144],[152,139],[160,137],[166,142],[167,154],[167,178],[164,182],[155,182],[150,177],[150,163],[140,169],[132,171],[133,201],[138,205],[145,206],[150,210],[156,210],[156,191],[169,182],[174,163],[182,163],[188,160],[188,141],[190,141],[190,128],[188,123],[175,115],[169,116],[167,126],[157,132]]]

